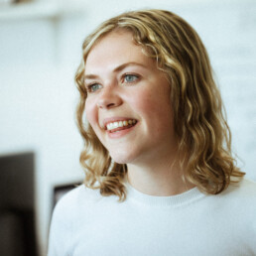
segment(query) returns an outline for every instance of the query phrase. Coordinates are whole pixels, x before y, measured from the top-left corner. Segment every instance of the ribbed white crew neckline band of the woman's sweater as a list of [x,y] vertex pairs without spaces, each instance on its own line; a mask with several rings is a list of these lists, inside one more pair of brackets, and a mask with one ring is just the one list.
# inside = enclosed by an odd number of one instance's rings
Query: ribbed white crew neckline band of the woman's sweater
[[139,203],[152,206],[182,206],[205,196],[205,194],[200,192],[196,187],[187,192],[175,195],[158,196],[139,192],[128,182],[125,183],[125,186],[127,191],[127,199],[132,199]]

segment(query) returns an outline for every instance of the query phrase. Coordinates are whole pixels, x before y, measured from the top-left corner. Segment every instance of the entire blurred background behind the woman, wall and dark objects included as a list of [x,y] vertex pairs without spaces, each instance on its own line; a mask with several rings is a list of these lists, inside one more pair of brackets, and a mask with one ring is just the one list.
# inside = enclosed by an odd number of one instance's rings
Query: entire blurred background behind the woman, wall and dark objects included
[[47,254],[55,201],[83,179],[73,81],[82,41],[106,18],[141,8],[173,11],[201,37],[238,164],[256,181],[255,0],[0,0],[1,255]]

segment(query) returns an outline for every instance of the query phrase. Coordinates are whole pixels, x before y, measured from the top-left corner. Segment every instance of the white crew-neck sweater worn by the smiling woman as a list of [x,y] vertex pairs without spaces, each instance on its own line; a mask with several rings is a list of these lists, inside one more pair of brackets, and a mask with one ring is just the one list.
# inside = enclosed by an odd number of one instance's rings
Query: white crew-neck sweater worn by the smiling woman
[[49,256],[256,255],[256,183],[218,195],[196,188],[153,196],[127,184],[127,199],[80,186],[55,208]]

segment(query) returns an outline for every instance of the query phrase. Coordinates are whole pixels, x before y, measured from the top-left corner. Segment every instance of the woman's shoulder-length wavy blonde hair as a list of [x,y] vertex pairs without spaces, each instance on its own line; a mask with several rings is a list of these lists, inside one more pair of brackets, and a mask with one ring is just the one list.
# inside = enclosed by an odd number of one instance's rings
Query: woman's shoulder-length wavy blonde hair
[[[172,84],[171,100],[175,132],[186,180],[201,192],[223,192],[245,175],[231,154],[231,134],[206,50],[192,27],[181,17],[165,10],[123,13],[102,23],[82,45],[82,61],[75,74],[79,90],[77,126],[84,140],[80,163],[84,184],[100,189],[102,195],[126,196],[127,166],[114,163],[106,148],[84,121],[87,92],[85,63],[91,48],[114,30],[128,30],[145,55],[155,60]],[[186,161],[185,161],[186,160]],[[186,163],[186,165],[185,165]],[[232,179],[235,178],[235,179]]]

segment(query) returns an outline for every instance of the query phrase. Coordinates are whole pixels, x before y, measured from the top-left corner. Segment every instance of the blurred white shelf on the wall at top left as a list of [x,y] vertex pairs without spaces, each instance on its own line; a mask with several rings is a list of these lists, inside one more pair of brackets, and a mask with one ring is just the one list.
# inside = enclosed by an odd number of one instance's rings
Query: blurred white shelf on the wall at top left
[[85,6],[82,2],[29,2],[0,5],[1,21],[19,21],[28,19],[54,19],[81,13]]

